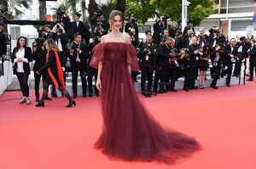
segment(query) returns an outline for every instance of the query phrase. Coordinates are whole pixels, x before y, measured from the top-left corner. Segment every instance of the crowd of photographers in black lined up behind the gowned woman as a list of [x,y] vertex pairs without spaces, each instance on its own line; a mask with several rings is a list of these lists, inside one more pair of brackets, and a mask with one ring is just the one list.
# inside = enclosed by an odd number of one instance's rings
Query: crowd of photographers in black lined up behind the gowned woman
[[[85,26],[84,22],[79,20],[80,16],[79,13],[74,14],[74,21],[70,22],[69,18],[64,16],[64,11],[60,11],[53,28],[51,29],[51,25],[44,25],[38,30],[39,38],[33,43],[33,58],[37,65],[39,56],[45,53],[44,41],[48,38],[55,40],[61,51],[63,70],[72,72],[73,98],[78,96],[79,74],[82,97],[86,97],[87,87],[89,97],[93,95],[92,78],[96,78],[97,70],[89,65],[91,51],[103,35],[111,32],[101,13],[92,15],[90,26]],[[218,78],[224,76],[226,86],[230,87],[232,72],[233,76],[240,76],[242,61],[248,56],[251,72],[248,80],[253,81],[253,67],[256,65],[253,38],[241,37],[238,41],[231,38],[228,42],[218,27],[212,27],[208,36],[201,27],[199,34],[195,35],[192,20],[189,20],[183,31],[175,22],[170,29],[165,29],[160,18],[155,20],[153,27],[154,34],[146,31],[146,39],[141,42],[138,38],[137,20],[133,16],[126,20],[124,28],[125,33],[131,37],[131,43],[137,48],[141,68],[140,71],[132,71],[131,76],[137,82],[137,75],[141,74],[141,90],[146,97],[168,91],[177,92],[175,82],[182,76],[184,91],[203,89],[208,69],[211,72],[212,88],[217,89]],[[42,60],[41,62],[40,65],[43,65]],[[195,86],[196,79],[199,79],[199,87]],[[99,96],[96,87],[94,91],[94,94]],[[51,94],[56,96],[55,89]],[[38,92],[36,96],[38,99]]]

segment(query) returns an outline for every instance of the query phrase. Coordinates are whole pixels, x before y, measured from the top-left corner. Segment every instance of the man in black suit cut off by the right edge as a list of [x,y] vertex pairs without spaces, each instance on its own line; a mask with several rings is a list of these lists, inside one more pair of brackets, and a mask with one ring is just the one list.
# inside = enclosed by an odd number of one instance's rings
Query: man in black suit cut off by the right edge
[[253,81],[253,69],[255,69],[256,74],[256,45],[255,39],[251,39],[251,48],[249,49],[249,56],[250,56],[250,78],[247,81]]

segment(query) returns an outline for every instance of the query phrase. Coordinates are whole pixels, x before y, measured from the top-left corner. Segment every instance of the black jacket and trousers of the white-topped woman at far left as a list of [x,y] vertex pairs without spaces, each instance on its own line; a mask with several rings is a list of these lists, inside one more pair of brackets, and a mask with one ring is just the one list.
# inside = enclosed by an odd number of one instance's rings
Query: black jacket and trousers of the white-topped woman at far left
[[32,61],[32,50],[29,47],[25,47],[24,49],[25,49],[24,59],[28,60],[27,63],[23,62],[24,72],[18,72],[17,71],[18,64],[15,61],[15,59],[16,59],[16,53],[19,50],[18,48],[14,48],[11,59],[12,59],[12,62],[15,63],[15,65],[14,65],[14,74],[18,77],[22,95],[24,97],[28,97],[29,96],[29,88],[28,88],[27,80],[28,80],[28,76],[30,74],[29,62]]

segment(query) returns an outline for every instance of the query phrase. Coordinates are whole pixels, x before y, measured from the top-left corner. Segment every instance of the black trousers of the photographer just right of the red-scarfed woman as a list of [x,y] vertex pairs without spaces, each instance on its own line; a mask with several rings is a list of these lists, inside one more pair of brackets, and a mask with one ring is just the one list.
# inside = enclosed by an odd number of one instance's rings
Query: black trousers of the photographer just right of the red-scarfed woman
[[78,94],[78,76],[80,73],[83,94],[86,94],[87,90],[87,82],[85,77],[85,64],[83,63],[75,63],[72,65],[72,87],[73,94]]

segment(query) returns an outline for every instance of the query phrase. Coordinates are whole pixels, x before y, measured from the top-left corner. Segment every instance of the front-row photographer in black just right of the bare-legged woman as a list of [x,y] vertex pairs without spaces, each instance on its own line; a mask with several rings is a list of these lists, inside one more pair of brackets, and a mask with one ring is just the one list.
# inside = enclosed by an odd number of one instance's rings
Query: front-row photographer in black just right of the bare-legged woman
[[217,43],[215,45],[214,50],[211,53],[211,58],[212,58],[212,62],[213,62],[213,79],[212,79],[212,83],[211,83],[211,87],[214,89],[218,89],[218,87],[216,86],[219,75],[220,75],[220,70],[222,67],[222,63],[223,63],[223,50],[222,50],[222,46],[221,44]]

